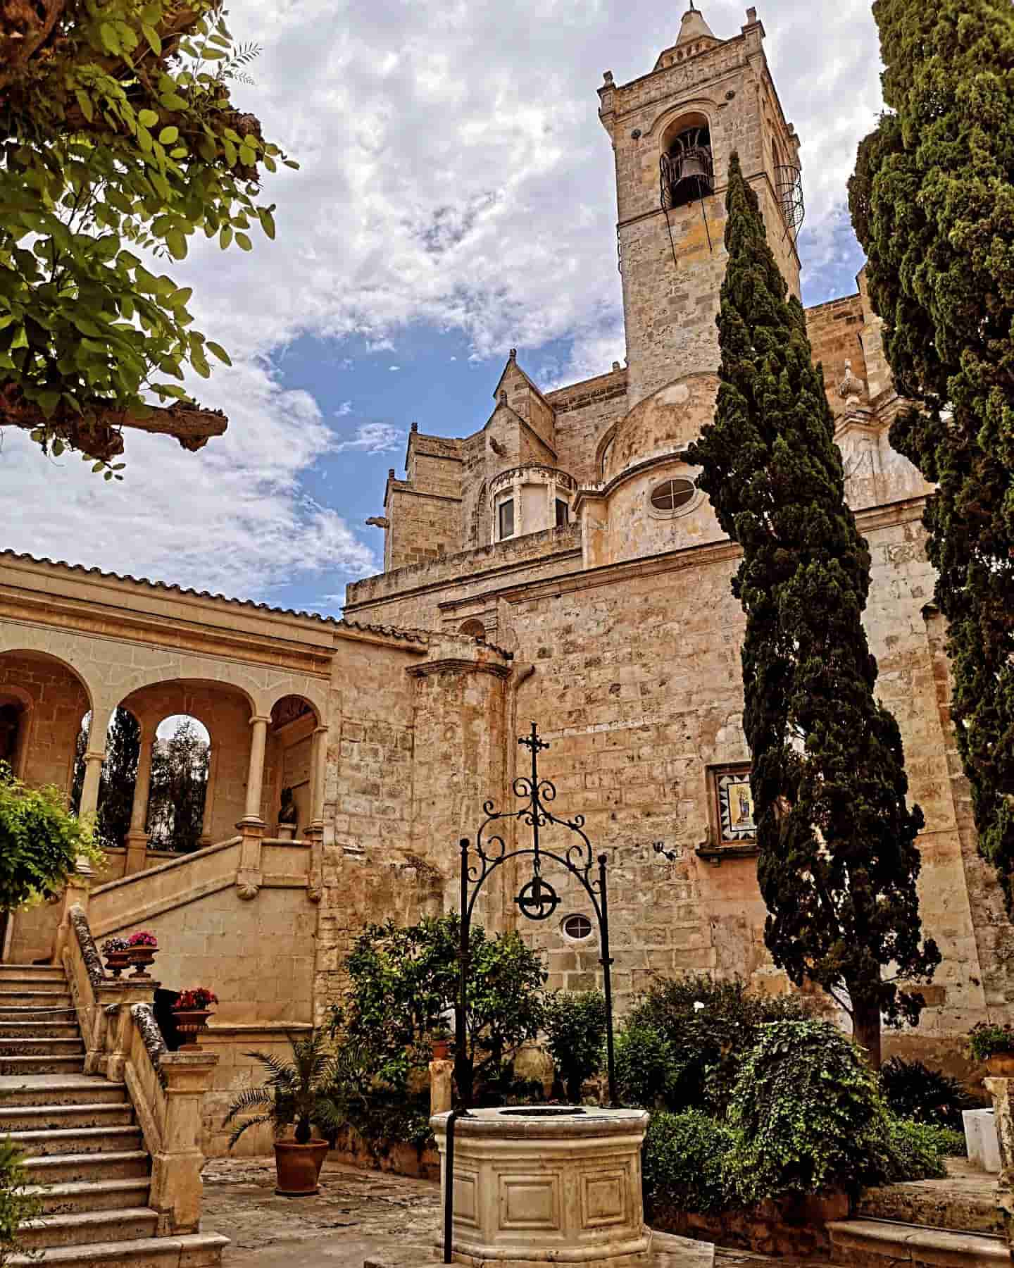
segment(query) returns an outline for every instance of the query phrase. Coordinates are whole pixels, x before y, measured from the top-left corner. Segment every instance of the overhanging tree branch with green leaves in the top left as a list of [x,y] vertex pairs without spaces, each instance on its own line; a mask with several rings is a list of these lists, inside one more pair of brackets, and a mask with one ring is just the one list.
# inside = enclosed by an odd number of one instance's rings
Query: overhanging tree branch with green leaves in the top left
[[260,184],[297,164],[232,104],[256,53],[209,0],[0,5],[0,427],[106,479],[127,429],[191,450],[226,430],[183,382],[228,354],[152,261],[274,238]]

